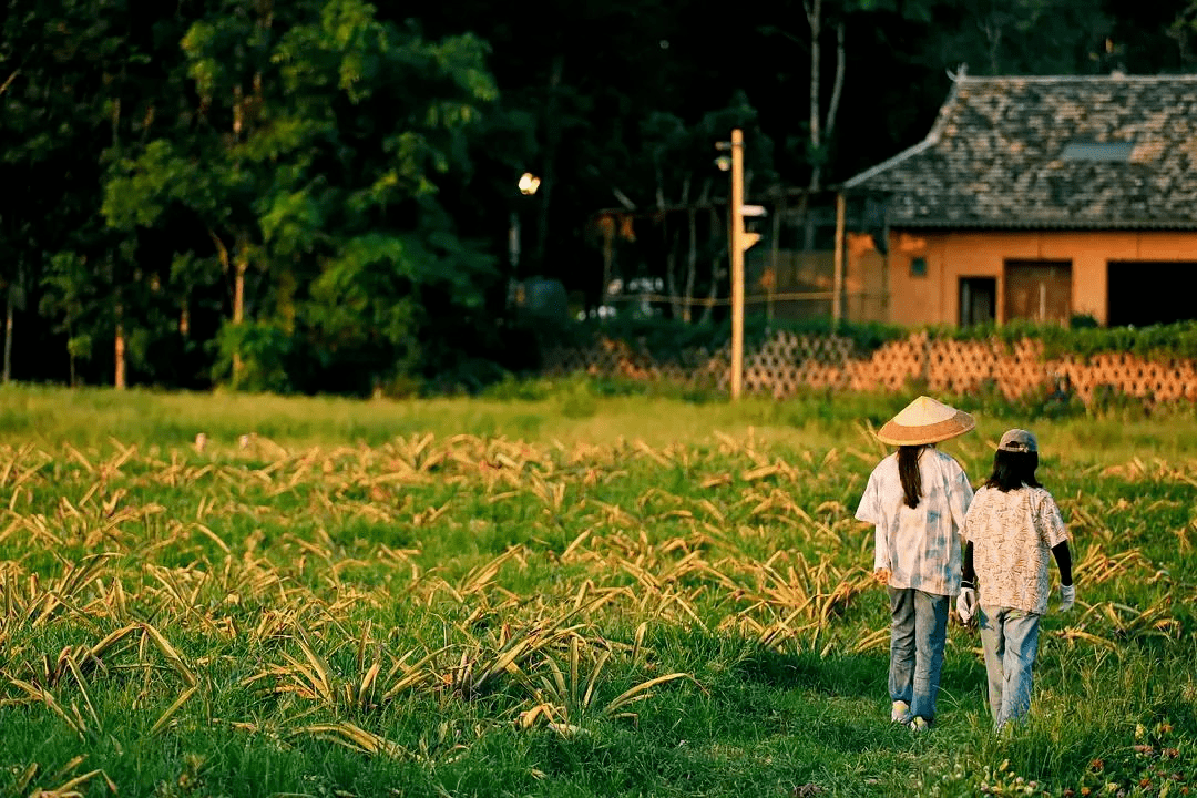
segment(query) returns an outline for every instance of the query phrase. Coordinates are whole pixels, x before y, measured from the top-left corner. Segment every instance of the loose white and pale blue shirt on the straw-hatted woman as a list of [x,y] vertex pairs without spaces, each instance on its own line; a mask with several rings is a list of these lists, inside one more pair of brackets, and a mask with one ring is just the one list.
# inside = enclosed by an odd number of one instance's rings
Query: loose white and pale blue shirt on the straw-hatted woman
[[923,495],[907,507],[897,452],[881,461],[861,497],[856,517],[874,524],[874,568],[889,568],[891,587],[940,596],[960,592],[960,530],[972,501],[968,476],[950,455],[924,449],[918,458]]

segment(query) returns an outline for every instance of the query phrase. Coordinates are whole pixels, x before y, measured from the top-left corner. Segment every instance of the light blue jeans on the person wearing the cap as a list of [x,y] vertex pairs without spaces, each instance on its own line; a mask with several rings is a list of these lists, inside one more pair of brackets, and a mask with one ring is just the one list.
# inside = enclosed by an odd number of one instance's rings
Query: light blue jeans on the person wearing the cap
[[989,676],[994,725],[1017,723],[1031,708],[1031,669],[1039,651],[1039,619],[1009,607],[982,607],[977,615]]

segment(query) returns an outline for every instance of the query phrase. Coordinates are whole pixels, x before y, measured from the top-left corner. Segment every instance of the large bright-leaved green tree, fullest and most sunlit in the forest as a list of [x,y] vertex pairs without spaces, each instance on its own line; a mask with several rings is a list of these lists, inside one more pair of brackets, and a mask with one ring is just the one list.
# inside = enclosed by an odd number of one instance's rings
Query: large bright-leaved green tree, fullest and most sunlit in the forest
[[232,274],[219,341],[235,384],[294,388],[279,370],[300,346],[326,365],[353,353],[378,373],[414,367],[421,292],[476,304],[490,267],[436,199],[468,169],[466,132],[496,97],[485,48],[323,0],[279,17],[225,4],[183,49],[198,124],[121,163],[109,223],[152,227],[177,206],[207,230]]

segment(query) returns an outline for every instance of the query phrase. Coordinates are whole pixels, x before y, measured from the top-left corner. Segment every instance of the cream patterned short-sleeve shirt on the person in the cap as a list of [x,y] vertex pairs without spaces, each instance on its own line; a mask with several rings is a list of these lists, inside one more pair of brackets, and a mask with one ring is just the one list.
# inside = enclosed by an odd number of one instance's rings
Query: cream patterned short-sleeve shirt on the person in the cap
[[977,601],[1043,615],[1051,585],[1051,549],[1068,540],[1056,500],[1044,488],[977,491],[965,518],[973,544]]

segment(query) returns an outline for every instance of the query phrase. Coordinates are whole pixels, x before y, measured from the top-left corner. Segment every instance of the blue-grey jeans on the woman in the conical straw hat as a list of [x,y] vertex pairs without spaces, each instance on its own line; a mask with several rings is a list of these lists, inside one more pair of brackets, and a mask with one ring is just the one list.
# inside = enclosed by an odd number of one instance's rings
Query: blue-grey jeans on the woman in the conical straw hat
[[947,596],[889,589],[889,698],[928,723],[935,718],[949,604]]

